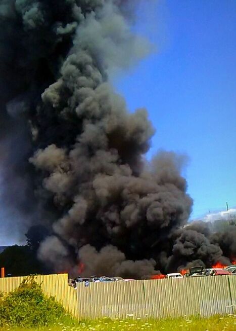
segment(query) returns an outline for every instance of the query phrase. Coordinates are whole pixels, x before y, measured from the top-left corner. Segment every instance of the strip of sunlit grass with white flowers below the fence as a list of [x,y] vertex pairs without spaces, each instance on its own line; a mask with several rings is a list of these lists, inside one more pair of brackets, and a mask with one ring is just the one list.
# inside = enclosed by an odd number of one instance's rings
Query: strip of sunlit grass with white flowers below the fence
[[[25,331],[26,328],[13,328],[5,326],[1,331]],[[211,318],[179,318],[163,320],[114,320],[104,318],[97,321],[73,321],[65,316],[63,322],[51,326],[31,328],[31,331],[136,331],[136,330],[158,330],[158,331],[235,331],[236,315],[225,317],[213,316]]]

